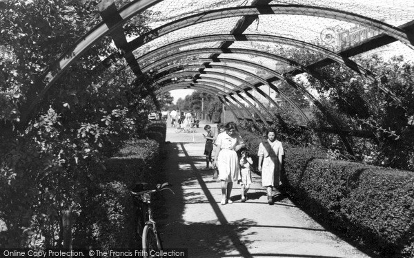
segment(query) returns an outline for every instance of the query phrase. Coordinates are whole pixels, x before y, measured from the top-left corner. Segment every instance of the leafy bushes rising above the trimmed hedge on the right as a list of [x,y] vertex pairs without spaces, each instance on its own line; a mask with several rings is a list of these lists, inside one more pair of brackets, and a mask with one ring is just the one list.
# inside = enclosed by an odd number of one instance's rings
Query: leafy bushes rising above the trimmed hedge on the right
[[[335,88],[328,88],[309,78],[313,87],[325,97],[325,105],[342,127],[371,131],[371,139],[350,138],[360,160],[369,164],[414,169],[414,66],[402,57],[384,61],[379,56],[359,63],[368,67],[375,81],[351,72],[342,65],[330,65],[320,70]],[[400,100],[380,88],[388,88]],[[315,111],[315,127],[326,125],[326,118]],[[326,135],[324,135],[326,136]],[[322,144],[344,153],[335,136],[323,137]]]

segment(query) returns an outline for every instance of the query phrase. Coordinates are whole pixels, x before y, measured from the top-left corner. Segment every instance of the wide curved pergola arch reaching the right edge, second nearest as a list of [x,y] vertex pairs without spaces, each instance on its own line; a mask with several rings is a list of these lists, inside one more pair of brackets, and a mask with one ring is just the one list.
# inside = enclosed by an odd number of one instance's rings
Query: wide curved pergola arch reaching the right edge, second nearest
[[[402,41],[402,43],[408,45],[413,49],[413,42],[410,41],[406,32],[400,28],[396,28],[393,25],[389,25],[382,21],[364,17],[352,12],[344,12],[332,8],[321,8],[315,6],[304,5],[266,5],[266,6],[238,6],[236,8],[222,8],[219,10],[210,10],[201,12],[199,14],[193,14],[188,17],[172,21],[165,25],[155,28],[142,36],[130,41],[128,49],[126,51],[133,51],[148,43],[149,41],[156,39],[159,36],[168,34],[181,28],[186,28],[190,25],[202,23],[206,21],[213,21],[216,19],[223,19],[228,17],[239,17],[246,15],[259,15],[259,14],[292,14],[292,15],[309,15],[313,17],[323,17],[330,19],[337,19],[339,21],[347,21],[350,23],[356,23],[359,25],[373,26],[382,30],[389,36]],[[352,20],[351,20],[352,19]]]

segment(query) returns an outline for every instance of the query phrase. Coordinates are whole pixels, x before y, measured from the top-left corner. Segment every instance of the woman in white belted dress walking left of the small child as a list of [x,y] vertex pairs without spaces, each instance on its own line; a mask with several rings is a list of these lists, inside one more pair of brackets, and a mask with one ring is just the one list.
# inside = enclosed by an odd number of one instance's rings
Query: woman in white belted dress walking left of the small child
[[217,136],[215,151],[215,167],[219,169],[221,181],[221,205],[231,204],[231,190],[233,182],[239,180],[239,157],[236,151],[245,147],[242,137],[239,136],[234,122],[228,122],[224,126],[225,131]]

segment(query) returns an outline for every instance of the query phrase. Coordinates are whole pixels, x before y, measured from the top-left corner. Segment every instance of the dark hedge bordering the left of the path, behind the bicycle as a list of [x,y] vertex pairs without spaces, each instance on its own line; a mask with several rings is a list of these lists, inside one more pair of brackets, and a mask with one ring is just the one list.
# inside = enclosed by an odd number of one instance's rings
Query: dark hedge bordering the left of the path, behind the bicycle
[[[164,133],[165,135],[165,133]],[[134,140],[106,164],[97,186],[83,200],[74,225],[76,248],[137,248],[134,200],[130,190],[137,182],[155,185],[159,178],[160,145],[155,140]]]

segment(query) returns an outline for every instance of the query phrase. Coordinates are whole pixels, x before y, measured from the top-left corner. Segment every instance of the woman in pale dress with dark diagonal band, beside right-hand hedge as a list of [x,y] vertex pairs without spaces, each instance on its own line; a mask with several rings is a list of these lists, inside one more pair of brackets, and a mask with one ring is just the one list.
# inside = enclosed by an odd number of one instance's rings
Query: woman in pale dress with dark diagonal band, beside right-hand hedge
[[267,140],[260,142],[257,155],[259,156],[258,169],[262,172],[262,186],[267,189],[268,204],[273,204],[272,189],[280,184],[282,170],[282,156],[284,155],[282,142],[276,140],[275,129],[266,132]]

